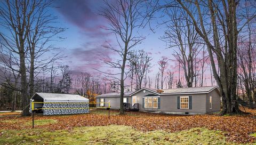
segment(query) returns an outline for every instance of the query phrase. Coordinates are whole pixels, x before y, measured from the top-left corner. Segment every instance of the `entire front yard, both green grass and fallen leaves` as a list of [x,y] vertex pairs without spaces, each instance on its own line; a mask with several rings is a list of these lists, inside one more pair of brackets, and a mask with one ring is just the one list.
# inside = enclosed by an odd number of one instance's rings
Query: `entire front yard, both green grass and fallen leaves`
[[[252,115],[159,115],[111,110],[90,114],[31,117],[1,115],[3,144],[253,144],[256,137]],[[15,118],[15,119],[14,119]]]

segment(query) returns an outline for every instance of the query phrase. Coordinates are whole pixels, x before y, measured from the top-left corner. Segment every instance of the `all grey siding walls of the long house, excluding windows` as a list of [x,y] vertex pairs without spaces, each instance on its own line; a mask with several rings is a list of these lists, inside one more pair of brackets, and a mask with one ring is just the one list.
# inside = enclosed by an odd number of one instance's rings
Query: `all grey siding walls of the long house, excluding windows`
[[[220,95],[218,89],[214,89],[210,93],[204,94],[173,94],[173,95],[158,95],[155,92],[146,90],[144,93],[142,89],[139,92],[127,97],[130,108],[132,108],[132,96],[137,96],[137,103],[139,103],[139,111],[159,111],[159,112],[177,112],[185,113],[191,112],[196,114],[206,114],[210,112],[220,111]],[[155,94],[160,96],[160,108],[143,108],[142,99],[143,96],[148,94]],[[178,109],[178,96],[192,96],[192,109]],[[210,96],[212,96],[212,109],[210,109]],[[154,97],[154,96],[153,96]],[[101,97],[105,98],[105,102],[110,101],[111,109],[119,109],[119,97]],[[100,98],[97,98],[97,102],[100,102]],[[99,107],[99,104],[97,104]]]

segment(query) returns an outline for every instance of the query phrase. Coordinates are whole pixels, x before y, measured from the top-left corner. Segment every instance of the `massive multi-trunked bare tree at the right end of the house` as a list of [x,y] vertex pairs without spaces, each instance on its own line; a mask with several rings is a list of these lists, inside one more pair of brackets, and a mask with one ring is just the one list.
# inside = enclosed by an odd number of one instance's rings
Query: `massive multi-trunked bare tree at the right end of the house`
[[[255,18],[255,12],[251,12],[249,20],[239,20],[245,23],[239,23],[238,28],[237,13],[243,13],[237,12],[239,1],[178,0],[178,4],[189,15],[195,30],[207,46],[213,76],[222,96],[222,114],[241,113],[238,104],[234,102],[237,100],[237,36],[246,23]],[[215,66],[214,55],[218,60],[220,74]]]

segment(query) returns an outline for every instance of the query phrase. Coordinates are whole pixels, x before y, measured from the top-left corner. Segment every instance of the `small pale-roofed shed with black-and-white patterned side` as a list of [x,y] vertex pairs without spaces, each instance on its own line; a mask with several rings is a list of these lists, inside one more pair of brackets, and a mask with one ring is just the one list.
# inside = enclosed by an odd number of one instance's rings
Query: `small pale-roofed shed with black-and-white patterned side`
[[89,113],[89,99],[81,95],[35,93],[30,100],[30,109],[32,102],[35,110],[42,110],[43,115]]

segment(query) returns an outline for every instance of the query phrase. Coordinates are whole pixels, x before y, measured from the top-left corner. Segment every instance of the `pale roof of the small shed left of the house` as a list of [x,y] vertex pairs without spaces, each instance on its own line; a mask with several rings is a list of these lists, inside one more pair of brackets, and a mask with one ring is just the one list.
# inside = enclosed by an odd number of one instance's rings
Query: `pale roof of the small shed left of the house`
[[55,93],[35,93],[31,99],[38,96],[44,99],[44,102],[89,102],[89,99],[74,94],[55,94]]

